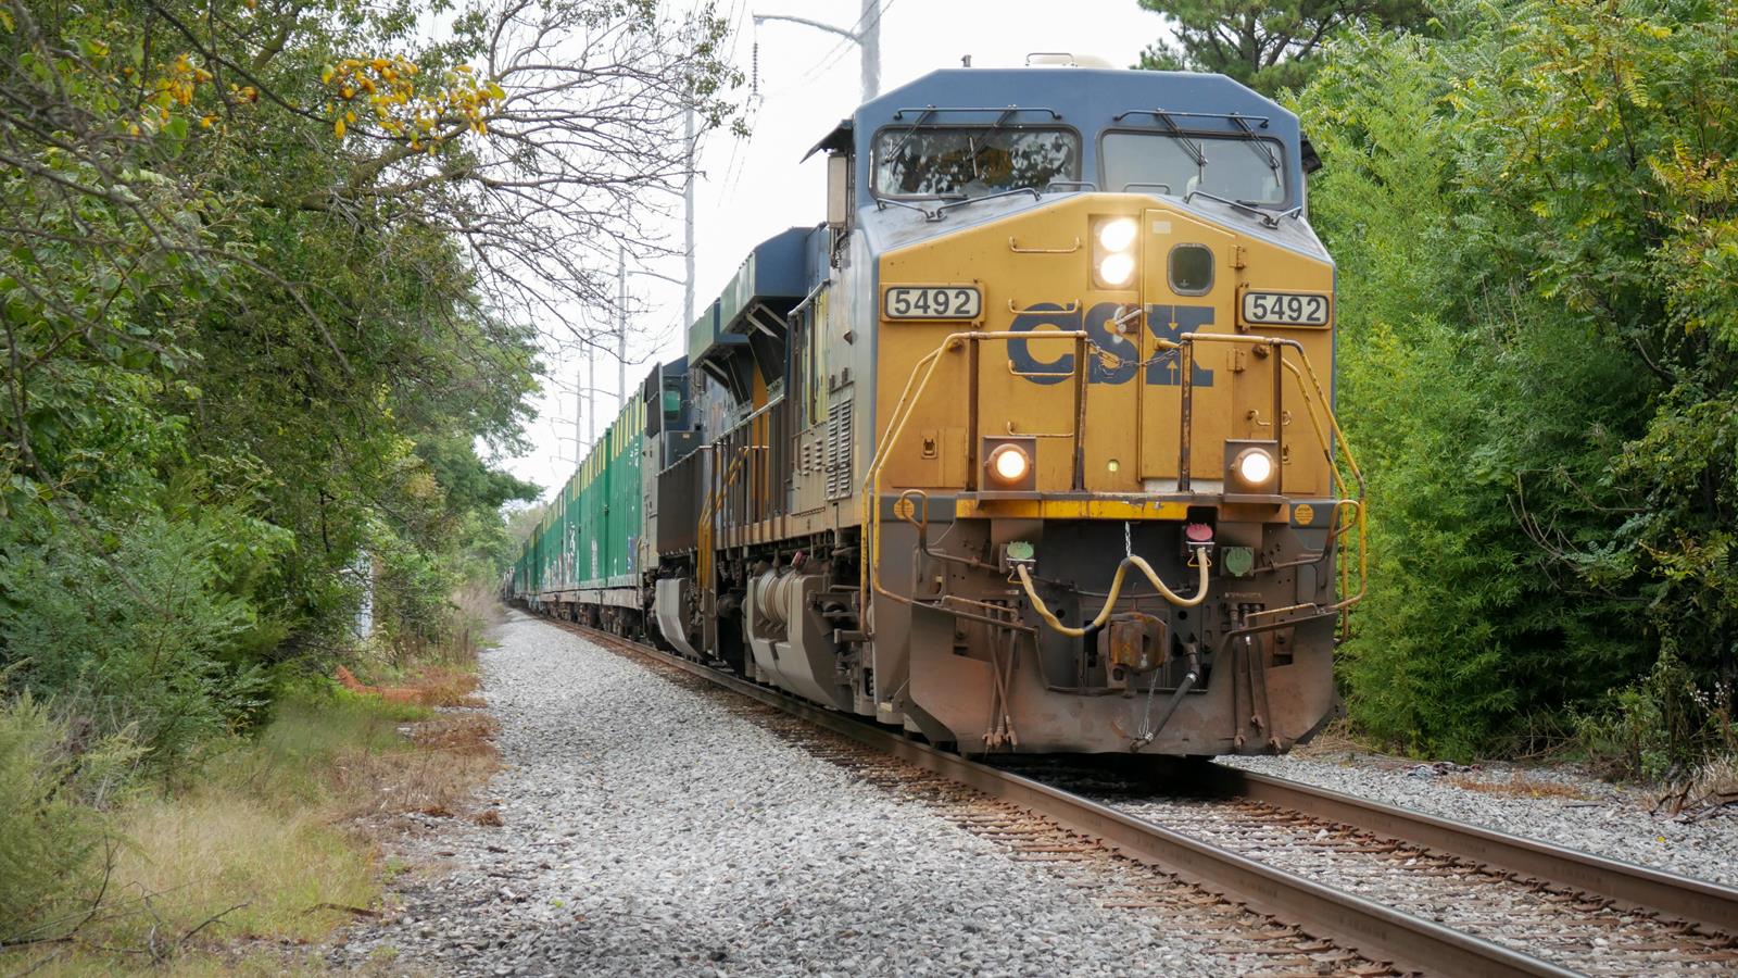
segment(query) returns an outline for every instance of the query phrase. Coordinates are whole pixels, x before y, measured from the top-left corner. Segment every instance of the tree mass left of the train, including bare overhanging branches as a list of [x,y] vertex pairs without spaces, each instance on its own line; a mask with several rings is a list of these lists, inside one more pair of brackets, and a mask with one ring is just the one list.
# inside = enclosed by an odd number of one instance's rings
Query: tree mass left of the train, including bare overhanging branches
[[[638,0],[0,0],[5,682],[139,654],[90,588],[167,616],[214,726],[351,646],[363,555],[438,628],[534,494],[488,459],[541,341],[660,251],[683,113],[730,124],[723,38]],[[63,614],[89,647],[9,630]]]

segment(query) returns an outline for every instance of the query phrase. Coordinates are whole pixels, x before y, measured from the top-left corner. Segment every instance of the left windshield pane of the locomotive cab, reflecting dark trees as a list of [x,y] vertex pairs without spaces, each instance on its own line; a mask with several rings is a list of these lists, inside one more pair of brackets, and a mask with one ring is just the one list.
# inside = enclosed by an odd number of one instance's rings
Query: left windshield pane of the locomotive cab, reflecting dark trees
[[1079,179],[1081,141],[1065,129],[883,129],[874,188],[886,197],[984,197]]

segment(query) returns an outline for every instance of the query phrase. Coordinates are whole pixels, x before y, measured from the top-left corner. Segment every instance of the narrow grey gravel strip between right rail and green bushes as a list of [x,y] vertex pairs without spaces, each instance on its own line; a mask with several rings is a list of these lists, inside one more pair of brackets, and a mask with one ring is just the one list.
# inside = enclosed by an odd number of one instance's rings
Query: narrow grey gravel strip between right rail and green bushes
[[1460,771],[1319,747],[1286,757],[1222,757],[1220,762],[1738,886],[1738,811],[1684,821],[1651,813],[1655,795],[1648,792],[1562,767],[1488,764]]

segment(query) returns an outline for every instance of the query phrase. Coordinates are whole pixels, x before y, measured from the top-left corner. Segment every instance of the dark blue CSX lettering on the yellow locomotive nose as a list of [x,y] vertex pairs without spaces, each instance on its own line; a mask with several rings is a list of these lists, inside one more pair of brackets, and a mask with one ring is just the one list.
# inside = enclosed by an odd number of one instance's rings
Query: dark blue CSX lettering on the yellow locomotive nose
[[[1121,306],[1116,303],[1098,303],[1081,313],[1078,306],[1074,311],[1067,311],[1055,303],[1038,303],[1027,311],[1013,317],[1013,324],[1008,329],[1012,332],[1032,332],[1039,327],[1058,329],[1064,332],[1085,331],[1093,346],[1114,355],[1114,360],[1109,360],[1107,357],[1091,358],[1086,369],[1088,383],[1128,383],[1135,378],[1135,371],[1142,369],[1145,371],[1142,383],[1159,386],[1180,383],[1177,374],[1182,367],[1178,365],[1177,350],[1158,353],[1145,365],[1142,365],[1140,350],[1135,348],[1135,343],[1111,329],[1111,320],[1116,318],[1118,308]],[[1159,339],[1177,343],[1184,332],[1213,325],[1213,306],[1152,305],[1147,306],[1147,315],[1144,318],[1147,320],[1147,332]],[[1060,343],[1057,346],[1060,346]],[[1010,339],[1008,358],[1013,362],[1013,369],[1032,383],[1058,385],[1074,376],[1072,352],[1062,353],[1055,360],[1039,360],[1032,355],[1031,339]],[[1213,386],[1213,371],[1196,362],[1191,362],[1189,367],[1189,379],[1192,385]]]

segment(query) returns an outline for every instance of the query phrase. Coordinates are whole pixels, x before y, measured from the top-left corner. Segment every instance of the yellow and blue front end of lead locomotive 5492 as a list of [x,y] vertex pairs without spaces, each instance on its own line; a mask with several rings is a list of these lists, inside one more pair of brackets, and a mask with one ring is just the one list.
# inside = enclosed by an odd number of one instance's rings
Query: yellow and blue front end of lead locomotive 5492
[[968,750],[1307,738],[1361,503],[1295,117],[1201,75],[912,89],[853,120],[841,263],[874,278],[883,719]]

